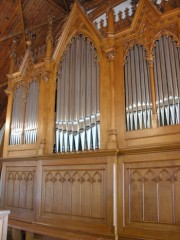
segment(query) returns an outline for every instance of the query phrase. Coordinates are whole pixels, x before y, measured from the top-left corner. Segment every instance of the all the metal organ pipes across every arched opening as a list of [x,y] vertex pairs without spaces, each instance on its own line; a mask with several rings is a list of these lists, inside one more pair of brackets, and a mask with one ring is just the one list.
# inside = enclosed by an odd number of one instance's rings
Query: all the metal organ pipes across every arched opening
[[[180,123],[180,49],[171,37],[155,42],[154,76],[159,126]],[[152,103],[146,50],[135,45],[124,66],[127,130],[150,128]],[[10,145],[37,141],[38,82],[14,92]],[[25,113],[24,113],[25,112]],[[25,114],[25,115],[24,115]],[[92,42],[82,35],[67,47],[57,76],[56,152],[100,147],[99,63]]]

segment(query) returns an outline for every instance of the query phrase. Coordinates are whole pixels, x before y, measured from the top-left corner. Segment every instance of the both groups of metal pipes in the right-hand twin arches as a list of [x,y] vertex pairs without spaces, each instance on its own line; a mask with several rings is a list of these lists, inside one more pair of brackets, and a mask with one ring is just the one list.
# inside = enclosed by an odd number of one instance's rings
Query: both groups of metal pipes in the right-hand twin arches
[[[180,49],[171,37],[162,36],[153,50],[158,125],[180,123]],[[127,131],[152,126],[149,67],[143,46],[129,50],[124,66]]]

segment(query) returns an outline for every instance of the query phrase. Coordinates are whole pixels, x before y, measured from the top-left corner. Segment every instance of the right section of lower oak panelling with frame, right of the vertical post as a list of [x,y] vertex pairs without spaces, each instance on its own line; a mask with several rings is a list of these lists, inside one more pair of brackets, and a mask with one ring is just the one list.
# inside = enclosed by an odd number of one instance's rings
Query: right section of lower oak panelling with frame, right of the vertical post
[[[118,160],[119,234],[179,239],[179,152],[133,154]],[[124,183],[124,184],[122,184]],[[122,211],[122,204],[124,208]]]

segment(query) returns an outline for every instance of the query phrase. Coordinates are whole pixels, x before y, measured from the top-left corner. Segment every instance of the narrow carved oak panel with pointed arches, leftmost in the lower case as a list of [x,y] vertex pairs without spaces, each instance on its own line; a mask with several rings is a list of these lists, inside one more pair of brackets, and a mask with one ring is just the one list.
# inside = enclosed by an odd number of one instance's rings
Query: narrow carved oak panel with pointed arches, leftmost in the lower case
[[5,205],[7,208],[34,209],[35,169],[7,167]]

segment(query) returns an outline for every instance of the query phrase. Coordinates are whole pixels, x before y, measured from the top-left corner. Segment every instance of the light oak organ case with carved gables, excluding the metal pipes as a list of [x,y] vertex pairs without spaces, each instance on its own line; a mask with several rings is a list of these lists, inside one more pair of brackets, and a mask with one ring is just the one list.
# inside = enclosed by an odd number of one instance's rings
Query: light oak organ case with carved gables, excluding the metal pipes
[[[120,26],[109,8],[107,27],[97,30],[75,1],[54,52],[47,41],[43,62],[34,64],[27,51],[19,72],[8,75],[1,207],[11,210],[10,226],[59,239],[179,240],[180,126],[157,126],[152,64],[162,35],[179,46],[179,9],[161,7],[140,0]],[[99,57],[101,149],[53,154],[57,71],[78,34]],[[147,52],[153,120],[150,129],[127,132],[124,64],[136,44]],[[32,76],[40,82],[37,144],[9,146],[13,91]]]

